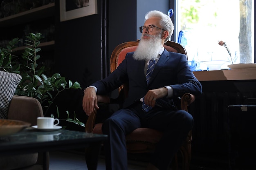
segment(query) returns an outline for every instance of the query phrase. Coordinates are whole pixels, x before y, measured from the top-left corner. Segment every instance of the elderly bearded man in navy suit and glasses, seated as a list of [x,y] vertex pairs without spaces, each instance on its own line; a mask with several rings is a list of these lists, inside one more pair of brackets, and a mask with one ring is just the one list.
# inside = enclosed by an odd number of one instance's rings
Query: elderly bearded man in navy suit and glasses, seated
[[107,170],[127,170],[125,136],[140,127],[164,132],[146,170],[166,170],[193,127],[193,117],[175,109],[172,99],[184,93],[202,93],[186,55],[163,47],[173,33],[168,15],[148,12],[139,30],[142,36],[137,50],[127,53],[115,71],[84,91],[83,109],[90,115],[99,108],[96,94],[107,94],[129,82],[123,108],[103,122],[102,131],[108,135],[104,144]]

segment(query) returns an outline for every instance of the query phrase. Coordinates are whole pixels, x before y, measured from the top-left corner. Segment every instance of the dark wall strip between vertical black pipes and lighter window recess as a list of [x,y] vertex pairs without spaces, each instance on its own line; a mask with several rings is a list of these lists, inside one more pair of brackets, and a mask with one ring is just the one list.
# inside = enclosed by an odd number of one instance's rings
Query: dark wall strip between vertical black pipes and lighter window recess
[[118,44],[136,41],[136,3],[137,0],[108,0],[108,63]]

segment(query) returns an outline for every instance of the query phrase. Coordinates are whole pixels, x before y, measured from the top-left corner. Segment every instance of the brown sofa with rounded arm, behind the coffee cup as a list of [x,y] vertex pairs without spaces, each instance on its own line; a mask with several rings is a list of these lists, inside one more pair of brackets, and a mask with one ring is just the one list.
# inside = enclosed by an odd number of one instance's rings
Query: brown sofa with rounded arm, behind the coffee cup
[[[21,120],[36,125],[36,118],[43,117],[40,102],[32,97],[14,95],[9,104],[8,119]],[[46,153],[49,170],[49,153]],[[43,170],[43,153],[0,157],[0,170]]]

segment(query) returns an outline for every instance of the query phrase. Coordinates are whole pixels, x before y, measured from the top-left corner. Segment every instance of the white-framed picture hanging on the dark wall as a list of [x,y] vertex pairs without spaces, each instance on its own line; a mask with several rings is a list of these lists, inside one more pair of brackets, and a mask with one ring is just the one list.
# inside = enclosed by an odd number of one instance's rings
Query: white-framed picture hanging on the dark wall
[[97,0],[60,0],[61,21],[97,14]]

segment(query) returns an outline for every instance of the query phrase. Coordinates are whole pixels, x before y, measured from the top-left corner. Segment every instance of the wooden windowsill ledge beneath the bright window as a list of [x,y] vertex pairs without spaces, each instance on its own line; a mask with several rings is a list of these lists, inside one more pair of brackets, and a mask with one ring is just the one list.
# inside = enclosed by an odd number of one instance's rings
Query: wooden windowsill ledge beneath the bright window
[[256,68],[243,68],[216,71],[194,71],[199,81],[223,81],[223,80],[254,80]]

